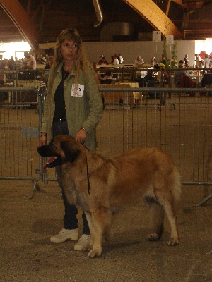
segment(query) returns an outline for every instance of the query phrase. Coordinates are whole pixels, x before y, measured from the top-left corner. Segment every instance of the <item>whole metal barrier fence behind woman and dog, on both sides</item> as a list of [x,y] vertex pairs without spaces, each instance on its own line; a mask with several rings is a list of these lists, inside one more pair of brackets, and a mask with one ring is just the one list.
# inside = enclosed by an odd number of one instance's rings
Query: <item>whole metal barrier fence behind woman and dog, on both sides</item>
[[[170,154],[185,184],[212,184],[212,89],[100,88],[105,110],[97,127],[103,157],[136,147],[160,147]],[[36,96],[37,101],[34,102]],[[136,101],[136,103],[135,103]],[[42,95],[32,88],[1,88],[0,179],[56,180],[40,173],[36,148],[42,123]],[[38,173],[38,174],[37,174]]]

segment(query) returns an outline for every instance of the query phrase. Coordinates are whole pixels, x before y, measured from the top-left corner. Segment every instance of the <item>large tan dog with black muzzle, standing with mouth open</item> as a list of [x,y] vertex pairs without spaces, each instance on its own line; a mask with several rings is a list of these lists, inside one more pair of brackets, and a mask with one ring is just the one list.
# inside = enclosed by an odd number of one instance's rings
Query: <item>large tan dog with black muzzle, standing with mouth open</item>
[[158,240],[162,235],[165,211],[171,226],[168,245],[179,244],[173,205],[179,199],[181,182],[177,168],[165,152],[157,148],[132,149],[104,159],[66,135],[54,137],[37,151],[43,157],[57,157],[47,166],[61,164],[69,202],[86,213],[91,235],[89,257],[102,254],[102,238],[110,231],[113,214],[141,202],[141,198],[153,212],[153,233],[148,240]]

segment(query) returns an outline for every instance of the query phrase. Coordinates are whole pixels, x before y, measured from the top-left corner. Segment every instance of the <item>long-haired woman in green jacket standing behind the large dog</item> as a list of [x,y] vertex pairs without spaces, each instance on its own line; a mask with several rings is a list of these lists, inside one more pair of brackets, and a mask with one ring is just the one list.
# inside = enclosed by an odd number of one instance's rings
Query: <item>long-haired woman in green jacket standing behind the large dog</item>
[[[102,108],[95,73],[84,54],[81,37],[77,30],[67,28],[57,38],[54,50],[39,145],[45,145],[55,135],[64,134],[94,150],[95,128],[102,116]],[[54,243],[78,240],[77,209],[66,200],[60,169],[57,166],[57,180],[65,207],[64,228],[50,238]],[[83,235],[74,250],[85,250],[89,242],[90,231],[83,214]]]

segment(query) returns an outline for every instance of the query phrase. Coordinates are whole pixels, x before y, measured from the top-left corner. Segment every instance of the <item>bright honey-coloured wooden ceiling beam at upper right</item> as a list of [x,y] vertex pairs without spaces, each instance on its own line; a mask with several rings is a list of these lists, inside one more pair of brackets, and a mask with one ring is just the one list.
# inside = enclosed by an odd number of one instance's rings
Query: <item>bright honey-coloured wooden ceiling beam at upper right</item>
[[181,39],[182,34],[165,13],[152,0],[124,0],[126,4],[134,8],[155,30],[159,30],[164,36],[174,35],[175,39]]

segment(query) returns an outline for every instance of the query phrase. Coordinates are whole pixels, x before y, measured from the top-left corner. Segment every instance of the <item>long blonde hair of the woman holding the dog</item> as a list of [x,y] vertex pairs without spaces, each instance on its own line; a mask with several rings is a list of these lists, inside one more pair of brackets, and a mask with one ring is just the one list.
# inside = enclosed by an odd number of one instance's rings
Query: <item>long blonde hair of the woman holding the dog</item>
[[76,60],[73,66],[76,68],[75,83],[78,83],[78,76],[80,69],[82,68],[82,71],[84,71],[86,66],[90,66],[90,68],[92,68],[92,66],[88,61],[88,59],[86,58],[86,54],[83,48],[83,42],[76,28],[66,28],[65,30],[62,30],[59,36],[57,37],[56,47],[54,49],[54,63],[52,65],[52,73],[55,73],[55,71],[57,70],[57,66],[59,66],[59,63],[64,61],[61,55],[61,44],[65,40],[76,42],[78,46],[78,52],[76,54]]

